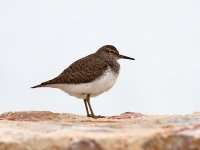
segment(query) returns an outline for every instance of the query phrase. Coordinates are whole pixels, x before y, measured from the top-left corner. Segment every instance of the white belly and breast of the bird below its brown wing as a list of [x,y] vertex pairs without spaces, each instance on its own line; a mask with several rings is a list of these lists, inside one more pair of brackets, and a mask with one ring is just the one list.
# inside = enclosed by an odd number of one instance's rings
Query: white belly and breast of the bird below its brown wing
[[51,84],[48,87],[59,88],[71,96],[86,98],[87,94],[91,97],[98,96],[108,91],[115,84],[118,74],[108,68],[102,76],[90,83],[81,84]]

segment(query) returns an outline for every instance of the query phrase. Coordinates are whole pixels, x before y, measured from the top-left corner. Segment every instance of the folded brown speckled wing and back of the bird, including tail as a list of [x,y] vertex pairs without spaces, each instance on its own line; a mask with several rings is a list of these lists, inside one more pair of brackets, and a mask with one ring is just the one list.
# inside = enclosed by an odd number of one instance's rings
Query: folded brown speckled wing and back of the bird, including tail
[[43,82],[35,87],[42,87],[48,84],[88,83],[102,75],[107,67],[108,66],[104,61],[98,58],[95,54],[92,54],[71,64],[58,77]]

